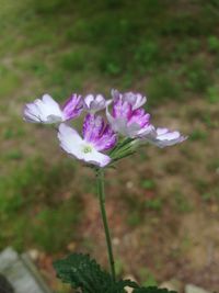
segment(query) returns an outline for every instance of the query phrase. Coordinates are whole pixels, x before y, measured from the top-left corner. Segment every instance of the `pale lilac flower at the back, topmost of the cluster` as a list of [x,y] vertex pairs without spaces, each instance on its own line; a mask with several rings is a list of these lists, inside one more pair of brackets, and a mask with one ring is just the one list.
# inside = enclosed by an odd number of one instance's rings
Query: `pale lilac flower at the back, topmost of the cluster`
[[142,106],[146,102],[147,102],[147,98],[143,97],[141,93],[135,93],[135,92],[125,92],[125,93],[120,93],[117,90],[112,90],[112,98],[114,100],[114,102],[116,102],[117,100],[122,100],[122,101],[126,101],[129,104],[131,104],[132,110],[136,110],[140,106]]

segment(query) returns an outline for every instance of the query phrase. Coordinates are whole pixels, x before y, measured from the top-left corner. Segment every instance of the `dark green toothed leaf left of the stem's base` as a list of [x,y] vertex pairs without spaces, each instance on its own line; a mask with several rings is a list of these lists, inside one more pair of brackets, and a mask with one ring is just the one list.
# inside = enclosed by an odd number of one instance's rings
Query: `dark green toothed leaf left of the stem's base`
[[114,281],[95,260],[88,255],[73,253],[54,262],[57,277],[82,293],[126,293],[125,286],[137,288],[129,280]]

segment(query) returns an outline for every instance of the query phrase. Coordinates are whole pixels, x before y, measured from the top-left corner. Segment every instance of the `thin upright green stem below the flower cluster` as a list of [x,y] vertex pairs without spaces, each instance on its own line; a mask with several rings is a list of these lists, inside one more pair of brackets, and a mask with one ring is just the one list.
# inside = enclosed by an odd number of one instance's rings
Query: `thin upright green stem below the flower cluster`
[[111,272],[112,272],[113,280],[115,281],[116,280],[115,262],[114,262],[114,257],[113,257],[111,234],[110,234],[110,229],[108,229],[106,211],[105,211],[104,171],[103,171],[103,169],[97,170],[96,181],[97,181],[97,194],[99,194],[99,202],[100,202],[100,207],[101,207],[101,215],[102,215],[104,230],[105,230],[105,237],[106,237],[106,245],[107,245],[107,251],[108,251]]

